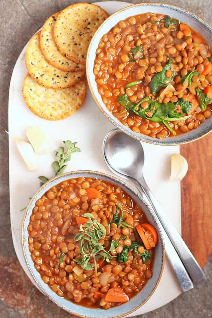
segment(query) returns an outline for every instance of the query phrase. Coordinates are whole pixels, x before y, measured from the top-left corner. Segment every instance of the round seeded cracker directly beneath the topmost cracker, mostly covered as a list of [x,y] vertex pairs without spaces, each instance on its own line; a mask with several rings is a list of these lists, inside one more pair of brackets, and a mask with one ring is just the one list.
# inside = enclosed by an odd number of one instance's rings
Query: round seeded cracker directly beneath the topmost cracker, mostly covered
[[82,71],[85,69],[85,66],[65,58],[54,42],[54,24],[60,12],[61,11],[54,13],[44,23],[40,33],[40,48],[46,61],[54,67],[66,72]]

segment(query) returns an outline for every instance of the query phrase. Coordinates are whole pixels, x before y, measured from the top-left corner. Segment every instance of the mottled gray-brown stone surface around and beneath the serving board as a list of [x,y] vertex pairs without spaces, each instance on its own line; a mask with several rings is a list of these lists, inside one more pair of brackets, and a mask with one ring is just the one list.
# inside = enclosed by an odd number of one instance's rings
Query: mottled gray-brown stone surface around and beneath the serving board
[[[145,2],[128,1],[132,3]],[[42,26],[47,17],[74,2],[77,1],[0,0],[0,318],[75,317],[44,297],[26,277],[17,260],[11,238],[8,140],[4,133],[8,120],[10,78],[22,48]],[[210,20],[211,0],[178,0],[177,2],[172,0],[166,2],[177,4],[194,12],[208,24],[212,23]],[[168,305],[143,315],[142,318],[212,317],[212,257],[209,258],[204,270],[208,278],[207,282],[181,294]]]

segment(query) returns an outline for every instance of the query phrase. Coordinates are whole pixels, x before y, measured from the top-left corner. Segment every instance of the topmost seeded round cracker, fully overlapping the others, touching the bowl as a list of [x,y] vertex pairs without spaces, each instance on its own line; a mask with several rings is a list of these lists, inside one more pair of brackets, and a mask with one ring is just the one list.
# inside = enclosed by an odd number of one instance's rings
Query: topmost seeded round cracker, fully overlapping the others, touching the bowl
[[54,25],[54,40],[60,52],[85,64],[90,40],[108,13],[91,3],[75,3],[61,11]]

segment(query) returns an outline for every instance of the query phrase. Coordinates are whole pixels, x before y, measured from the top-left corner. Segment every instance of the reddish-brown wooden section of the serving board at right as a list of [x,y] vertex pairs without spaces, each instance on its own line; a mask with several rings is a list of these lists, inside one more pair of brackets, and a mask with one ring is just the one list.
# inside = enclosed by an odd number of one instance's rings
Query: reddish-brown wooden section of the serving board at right
[[182,238],[203,267],[212,250],[212,133],[180,146],[188,172],[181,182]]

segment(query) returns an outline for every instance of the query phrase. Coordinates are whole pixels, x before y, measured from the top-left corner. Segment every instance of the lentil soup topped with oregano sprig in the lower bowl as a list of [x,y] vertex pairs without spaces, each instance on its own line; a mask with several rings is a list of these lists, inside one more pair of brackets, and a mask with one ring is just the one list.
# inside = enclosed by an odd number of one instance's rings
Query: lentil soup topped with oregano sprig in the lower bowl
[[117,185],[78,177],[36,201],[28,225],[31,258],[59,296],[89,308],[129,301],[152,277],[155,228]]

